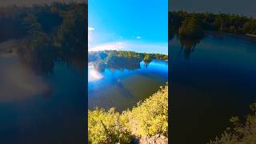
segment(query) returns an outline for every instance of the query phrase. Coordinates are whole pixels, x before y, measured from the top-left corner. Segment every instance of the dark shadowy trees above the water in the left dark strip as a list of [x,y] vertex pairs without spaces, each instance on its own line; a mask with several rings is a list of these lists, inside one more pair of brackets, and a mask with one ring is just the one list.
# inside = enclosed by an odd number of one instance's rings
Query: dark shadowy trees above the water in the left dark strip
[[53,2],[0,9],[0,42],[16,39],[18,56],[38,73],[58,59],[84,68],[87,57],[86,3]]

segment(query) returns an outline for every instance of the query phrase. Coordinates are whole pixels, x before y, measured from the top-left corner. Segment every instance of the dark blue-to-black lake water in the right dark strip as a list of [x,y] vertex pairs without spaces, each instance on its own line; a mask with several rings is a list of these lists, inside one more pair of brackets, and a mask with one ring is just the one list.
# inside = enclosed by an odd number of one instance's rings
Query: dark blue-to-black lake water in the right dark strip
[[[182,44],[181,44],[182,43]],[[256,41],[234,34],[169,43],[174,143],[206,143],[256,102]]]

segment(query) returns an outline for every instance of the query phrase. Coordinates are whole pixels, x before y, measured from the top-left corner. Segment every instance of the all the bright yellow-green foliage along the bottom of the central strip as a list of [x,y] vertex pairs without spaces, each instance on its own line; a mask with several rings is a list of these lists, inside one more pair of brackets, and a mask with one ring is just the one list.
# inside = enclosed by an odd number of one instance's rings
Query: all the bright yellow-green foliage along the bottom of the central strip
[[114,108],[88,112],[90,143],[129,143],[132,138],[168,135],[168,86],[122,114]]

